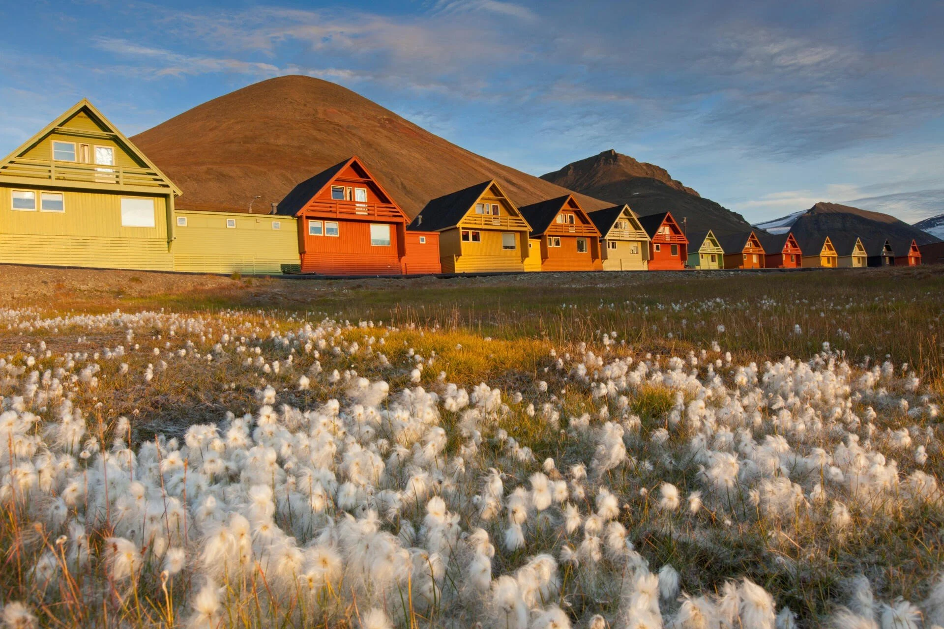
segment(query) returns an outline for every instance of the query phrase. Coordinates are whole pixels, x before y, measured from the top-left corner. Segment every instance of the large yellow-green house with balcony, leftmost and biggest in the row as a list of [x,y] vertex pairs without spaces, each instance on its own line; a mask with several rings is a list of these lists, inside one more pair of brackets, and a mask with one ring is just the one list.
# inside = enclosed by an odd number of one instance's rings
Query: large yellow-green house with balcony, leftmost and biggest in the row
[[79,101],[0,161],[0,262],[170,271],[179,194]]

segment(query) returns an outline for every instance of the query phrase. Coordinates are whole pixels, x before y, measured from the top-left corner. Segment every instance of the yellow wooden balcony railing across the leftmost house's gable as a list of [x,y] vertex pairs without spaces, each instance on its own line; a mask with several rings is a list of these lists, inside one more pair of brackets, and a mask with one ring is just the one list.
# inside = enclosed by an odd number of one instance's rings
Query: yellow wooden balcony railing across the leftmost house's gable
[[0,169],[0,176],[49,182],[71,182],[170,189],[160,174],[148,168],[103,166],[17,157]]

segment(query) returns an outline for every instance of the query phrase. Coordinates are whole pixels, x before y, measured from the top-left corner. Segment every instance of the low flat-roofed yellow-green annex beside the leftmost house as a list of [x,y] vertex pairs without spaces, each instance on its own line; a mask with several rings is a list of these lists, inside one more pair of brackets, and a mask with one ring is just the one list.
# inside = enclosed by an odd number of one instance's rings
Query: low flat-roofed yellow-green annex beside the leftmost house
[[[180,209],[174,217],[175,225],[178,218],[187,220],[175,230],[175,271],[276,274],[283,264],[300,263],[297,222],[291,217]],[[236,227],[227,227],[227,220]]]

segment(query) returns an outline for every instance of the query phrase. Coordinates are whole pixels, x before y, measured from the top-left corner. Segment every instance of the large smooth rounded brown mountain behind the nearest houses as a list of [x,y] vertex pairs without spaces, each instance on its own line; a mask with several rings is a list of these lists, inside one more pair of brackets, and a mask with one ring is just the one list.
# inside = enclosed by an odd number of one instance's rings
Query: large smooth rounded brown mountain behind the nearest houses
[[[177,207],[267,211],[300,181],[356,155],[411,217],[497,179],[526,205],[568,190],[431,134],[334,83],[280,76],[215,98],[131,139],[183,195]],[[580,197],[588,209],[608,207]]]

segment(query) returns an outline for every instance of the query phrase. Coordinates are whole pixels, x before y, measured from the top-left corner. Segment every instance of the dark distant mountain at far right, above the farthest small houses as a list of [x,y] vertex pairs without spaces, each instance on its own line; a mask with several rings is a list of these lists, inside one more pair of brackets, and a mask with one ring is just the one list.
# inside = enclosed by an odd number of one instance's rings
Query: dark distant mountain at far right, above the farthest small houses
[[937,241],[934,236],[889,214],[825,202],[755,226],[772,234],[792,231],[797,239],[818,234],[829,236],[846,233],[855,234],[863,241],[879,238],[890,238],[894,241],[914,239],[918,244]]

